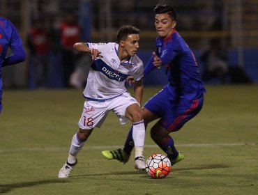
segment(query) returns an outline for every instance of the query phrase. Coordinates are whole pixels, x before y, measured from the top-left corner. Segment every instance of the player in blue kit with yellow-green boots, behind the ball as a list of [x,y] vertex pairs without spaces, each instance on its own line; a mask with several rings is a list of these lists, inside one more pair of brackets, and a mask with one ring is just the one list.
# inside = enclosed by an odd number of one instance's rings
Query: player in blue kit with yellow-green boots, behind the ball
[[[151,121],[158,122],[151,127],[151,138],[167,154],[172,165],[183,160],[169,135],[183,127],[202,109],[204,84],[199,76],[197,62],[185,40],[176,31],[176,12],[172,6],[157,5],[155,11],[156,52],[144,67],[144,76],[151,70],[166,66],[165,75],[168,84],[144,104],[142,114],[145,126]],[[125,146],[118,150],[105,150],[107,159],[128,162],[133,148],[132,130],[128,134]]]

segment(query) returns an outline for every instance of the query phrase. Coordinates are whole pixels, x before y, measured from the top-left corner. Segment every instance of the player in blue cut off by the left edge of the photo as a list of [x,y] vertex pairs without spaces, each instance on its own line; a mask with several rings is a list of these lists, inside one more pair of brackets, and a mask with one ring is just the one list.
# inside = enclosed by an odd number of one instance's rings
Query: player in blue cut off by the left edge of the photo
[[[6,56],[8,47],[13,54]],[[25,61],[26,54],[22,47],[22,39],[15,26],[7,19],[0,17],[0,113],[2,110],[2,67]]]

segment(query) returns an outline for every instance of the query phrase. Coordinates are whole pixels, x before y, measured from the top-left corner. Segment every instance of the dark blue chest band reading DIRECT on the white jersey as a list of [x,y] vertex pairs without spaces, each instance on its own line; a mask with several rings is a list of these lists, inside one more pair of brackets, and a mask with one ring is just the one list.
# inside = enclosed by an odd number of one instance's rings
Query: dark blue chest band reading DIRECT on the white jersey
[[128,75],[126,74],[117,72],[101,59],[97,59],[93,61],[91,64],[91,68],[93,68],[93,70],[103,73],[103,75],[105,75],[107,78],[116,80],[116,81],[124,81],[126,77],[128,77]]

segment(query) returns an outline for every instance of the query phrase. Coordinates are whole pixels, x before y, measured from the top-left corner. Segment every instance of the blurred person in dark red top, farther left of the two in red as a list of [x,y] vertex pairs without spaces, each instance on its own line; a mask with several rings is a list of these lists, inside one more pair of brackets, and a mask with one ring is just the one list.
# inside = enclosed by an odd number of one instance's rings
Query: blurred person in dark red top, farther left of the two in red
[[50,76],[50,39],[43,20],[35,20],[29,30],[29,88],[46,87]]

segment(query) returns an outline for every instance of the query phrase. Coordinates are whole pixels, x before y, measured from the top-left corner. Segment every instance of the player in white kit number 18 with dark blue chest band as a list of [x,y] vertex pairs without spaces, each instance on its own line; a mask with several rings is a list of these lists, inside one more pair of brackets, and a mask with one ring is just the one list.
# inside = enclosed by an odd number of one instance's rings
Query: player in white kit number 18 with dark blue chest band
[[[68,159],[59,171],[59,178],[68,178],[77,164],[77,154],[91,135],[94,127],[100,127],[109,111],[118,116],[120,123],[132,121],[132,137],[135,143],[135,169],[145,169],[143,156],[145,127],[140,109],[143,93],[142,61],[136,56],[139,49],[139,29],[121,26],[117,33],[118,43],[77,42],[77,52],[91,54],[93,62],[83,95],[85,98],[79,131],[73,136]],[[126,77],[135,79],[132,98],[126,90]],[[116,154],[114,154],[116,155]]]

